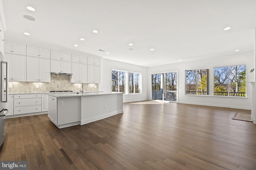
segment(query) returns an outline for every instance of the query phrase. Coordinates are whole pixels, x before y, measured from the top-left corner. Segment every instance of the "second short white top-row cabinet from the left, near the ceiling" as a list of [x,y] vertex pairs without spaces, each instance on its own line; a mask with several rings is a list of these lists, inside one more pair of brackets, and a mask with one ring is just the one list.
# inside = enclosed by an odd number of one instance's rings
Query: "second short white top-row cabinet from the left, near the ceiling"
[[44,49],[40,47],[34,47],[27,45],[27,55],[28,56],[33,56],[33,57],[41,57],[41,58],[46,58],[50,59],[50,49]]

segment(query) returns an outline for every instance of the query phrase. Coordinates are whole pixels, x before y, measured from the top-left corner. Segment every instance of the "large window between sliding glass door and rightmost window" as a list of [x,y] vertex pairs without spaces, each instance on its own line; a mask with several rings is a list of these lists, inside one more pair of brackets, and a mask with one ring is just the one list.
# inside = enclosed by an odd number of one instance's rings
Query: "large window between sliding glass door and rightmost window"
[[209,95],[209,69],[186,70],[186,94]]

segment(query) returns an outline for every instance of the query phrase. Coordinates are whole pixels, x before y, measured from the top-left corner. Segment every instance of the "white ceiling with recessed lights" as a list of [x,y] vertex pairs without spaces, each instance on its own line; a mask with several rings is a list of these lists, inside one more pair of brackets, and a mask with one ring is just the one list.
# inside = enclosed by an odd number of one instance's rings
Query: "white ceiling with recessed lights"
[[3,0],[3,5],[6,40],[141,66],[254,50],[256,0]]

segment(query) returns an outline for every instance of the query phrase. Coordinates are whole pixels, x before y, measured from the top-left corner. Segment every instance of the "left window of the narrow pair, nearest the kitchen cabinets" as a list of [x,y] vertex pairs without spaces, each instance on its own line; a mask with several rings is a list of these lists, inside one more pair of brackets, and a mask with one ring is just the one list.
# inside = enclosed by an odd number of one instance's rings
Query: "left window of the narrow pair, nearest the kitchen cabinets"
[[112,70],[112,92],[126,93],[126,71]]

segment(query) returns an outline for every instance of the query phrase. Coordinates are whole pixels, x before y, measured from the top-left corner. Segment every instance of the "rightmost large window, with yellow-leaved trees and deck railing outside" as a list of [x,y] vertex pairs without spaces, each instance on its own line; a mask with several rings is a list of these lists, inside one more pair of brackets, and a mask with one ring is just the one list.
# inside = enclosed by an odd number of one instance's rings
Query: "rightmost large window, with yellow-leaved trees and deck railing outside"
[[246,97],[246,65],[215,67],[214,95]]

